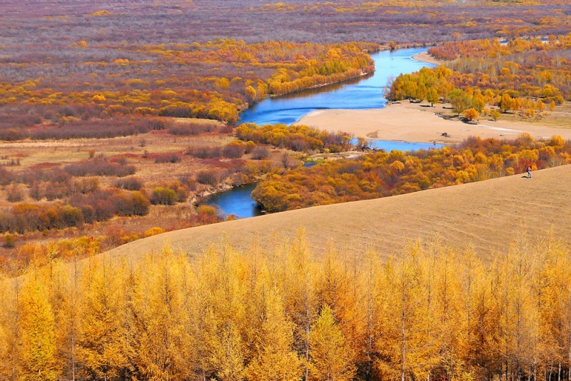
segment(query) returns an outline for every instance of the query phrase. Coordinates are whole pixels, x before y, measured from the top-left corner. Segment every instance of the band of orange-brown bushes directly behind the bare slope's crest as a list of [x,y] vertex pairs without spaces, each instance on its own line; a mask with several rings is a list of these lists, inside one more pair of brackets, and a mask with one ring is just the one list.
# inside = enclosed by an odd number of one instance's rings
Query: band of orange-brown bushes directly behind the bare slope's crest
[[252,197],[269,212],[385,197],[522,173],[527,166],[571,163],[571,145],[560,136],[534,141],[468,138],[455,147],[367,153],[312,168],[273,173]]

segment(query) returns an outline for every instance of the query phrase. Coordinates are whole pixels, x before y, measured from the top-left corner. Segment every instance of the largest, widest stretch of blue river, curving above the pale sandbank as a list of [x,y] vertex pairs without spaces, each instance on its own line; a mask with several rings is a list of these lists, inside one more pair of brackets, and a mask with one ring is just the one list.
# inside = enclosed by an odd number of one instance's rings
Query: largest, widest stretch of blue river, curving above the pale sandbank
[[240,121],[256,123],[260,126],[268,123],[290,125],[299,121],[306,113],[315,110],[383,108],[386,104],[383,98],[383,86],[388,83],[391,76],[412,73],[423,66],[433,67],[433,65],[410,58],[425,50],[425,48],[412,48],[380,51],[371,55],[375,61],[373,75],[286,96],[266,98],[243,111]]

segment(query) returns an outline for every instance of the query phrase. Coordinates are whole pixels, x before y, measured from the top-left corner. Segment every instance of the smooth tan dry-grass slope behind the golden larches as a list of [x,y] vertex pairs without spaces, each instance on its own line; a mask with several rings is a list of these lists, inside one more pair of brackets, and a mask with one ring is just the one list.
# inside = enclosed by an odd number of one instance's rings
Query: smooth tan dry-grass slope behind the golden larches
[[489,259],[522,230],[532,239],[552,230],[556,238],[571,243],[570,183],[571,166],[561,166],[536,171],[531,179],[516,175],[176,230],[128,243],[111,253],[136,256],[160,250],[165,240],[187,253],[201,253],[222,240],[243,249],[256,239],[270,244],[275,237],[293,238],[303,226],[315,253],[330,242],[355,252],[371,247],[391,255],[400,253],[412,239],[439,236],[453,248],[473,243],[477,253]]

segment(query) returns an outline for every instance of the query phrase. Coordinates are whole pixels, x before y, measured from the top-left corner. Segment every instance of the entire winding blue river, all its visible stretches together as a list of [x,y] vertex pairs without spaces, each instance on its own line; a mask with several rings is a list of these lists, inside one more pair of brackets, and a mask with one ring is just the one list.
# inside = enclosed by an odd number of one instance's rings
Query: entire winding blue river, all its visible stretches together
[[[425,48],[399,49],[396,51],[380,51],[372,54],[375,61],[375,73],[363,78],[355,78],[343,83],[335,83],[316,89],[300,91],[275,98],[266,98],[256,103],[241,114],[241,122],[252,122],[258,125],[268,123],[284,123],[290,125],[299,121],[306,113],[330,108],[350,108],[362,110],[366,108],[383,108],[383,86],[391,76],[401,73],[412,73],[423,66],[433,65],[416,61],[411,57]],[[408,143],[395,141],[373,141],[374,147],[386,151],[410,151],[430,148],[430,143]],[[206,203],[213,205],[222,215],[233,214],[238,218],[260,215],[250,193],[256,185],[241,186],[231,191],[216,193]]]

